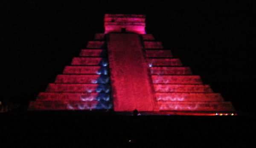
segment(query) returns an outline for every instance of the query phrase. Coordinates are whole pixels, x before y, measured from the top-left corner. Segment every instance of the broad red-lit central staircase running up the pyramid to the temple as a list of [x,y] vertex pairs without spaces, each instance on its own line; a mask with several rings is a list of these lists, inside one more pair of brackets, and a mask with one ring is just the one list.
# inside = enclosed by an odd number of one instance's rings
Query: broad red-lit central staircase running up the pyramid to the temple
[[148,65],[138,34],[110,34],[109,66],[114,111],[154,111]]

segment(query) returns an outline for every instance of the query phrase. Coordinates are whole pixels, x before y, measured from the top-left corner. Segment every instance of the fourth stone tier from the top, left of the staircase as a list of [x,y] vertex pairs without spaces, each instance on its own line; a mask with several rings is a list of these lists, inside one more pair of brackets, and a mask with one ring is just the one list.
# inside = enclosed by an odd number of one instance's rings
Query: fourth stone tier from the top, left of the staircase
[[100,65],[108,66],[108,60],[101,57],[74,57],[71,65]]

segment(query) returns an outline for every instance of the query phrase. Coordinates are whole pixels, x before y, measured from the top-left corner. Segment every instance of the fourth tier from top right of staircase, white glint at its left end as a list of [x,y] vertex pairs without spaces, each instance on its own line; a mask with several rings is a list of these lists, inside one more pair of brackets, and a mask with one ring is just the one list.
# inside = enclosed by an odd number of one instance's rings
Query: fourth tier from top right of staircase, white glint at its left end
[[148,66],[181,66],[180,59],[174,58],[147,58]]

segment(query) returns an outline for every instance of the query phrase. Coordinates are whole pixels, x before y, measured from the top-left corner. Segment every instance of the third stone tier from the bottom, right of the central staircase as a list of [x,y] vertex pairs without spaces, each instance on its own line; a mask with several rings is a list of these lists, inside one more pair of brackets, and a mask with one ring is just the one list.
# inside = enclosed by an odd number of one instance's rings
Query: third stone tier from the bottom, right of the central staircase
[[155,92],[176,92],[176,93],[211,93],[209,85],[202,84],[154,84]]

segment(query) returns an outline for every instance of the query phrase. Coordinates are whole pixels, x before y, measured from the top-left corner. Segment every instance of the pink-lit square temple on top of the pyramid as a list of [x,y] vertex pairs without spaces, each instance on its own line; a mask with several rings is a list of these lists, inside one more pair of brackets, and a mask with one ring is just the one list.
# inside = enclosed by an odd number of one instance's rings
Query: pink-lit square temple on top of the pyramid
[[132,32],[146,34],[145,15],[138,14],[105,14],[105,34],[112,32]]

